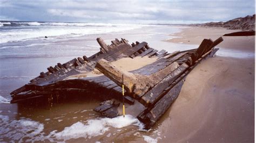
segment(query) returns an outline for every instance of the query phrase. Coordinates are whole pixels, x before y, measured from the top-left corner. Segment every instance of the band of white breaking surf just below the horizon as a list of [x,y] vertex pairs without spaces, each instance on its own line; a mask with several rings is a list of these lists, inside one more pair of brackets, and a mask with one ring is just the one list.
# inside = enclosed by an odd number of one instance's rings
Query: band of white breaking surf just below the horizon
[[50,23],[50,22],[0,22],[0,43],[45,39],[69,38],[87,34],[103,34],[134,30],[146,25],[104,23]]

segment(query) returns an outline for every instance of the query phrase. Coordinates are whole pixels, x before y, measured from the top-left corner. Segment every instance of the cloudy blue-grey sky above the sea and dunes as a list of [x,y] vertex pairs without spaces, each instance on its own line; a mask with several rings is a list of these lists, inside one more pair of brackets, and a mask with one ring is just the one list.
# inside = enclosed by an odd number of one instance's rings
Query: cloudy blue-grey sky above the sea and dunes
[[0,0],[0,20],[129,24],[225,22],[255,14],[254,0]]

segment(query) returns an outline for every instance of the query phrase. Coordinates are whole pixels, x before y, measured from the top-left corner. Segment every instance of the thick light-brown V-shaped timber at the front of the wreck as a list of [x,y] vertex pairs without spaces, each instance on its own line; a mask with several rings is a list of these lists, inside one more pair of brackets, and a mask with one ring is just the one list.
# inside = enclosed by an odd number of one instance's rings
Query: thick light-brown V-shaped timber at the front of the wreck
[[[173,71],[178,67],[177,62],[173,62],[166,68],[152,74],[151,76],[145,76],[140,74],[132,74],[128,71],[122,70],[106,61],[104,59],[99,60],[95,66],[105,76],[109,77],[110,80],[115,82],[117,85],[122,87],[124,84],[125,90],[134,98],[142,97],[149,89],[154,87],[160,82],[165,76],[169,75],[170,71]],[[124,83],[122,79],[124,77]]]

